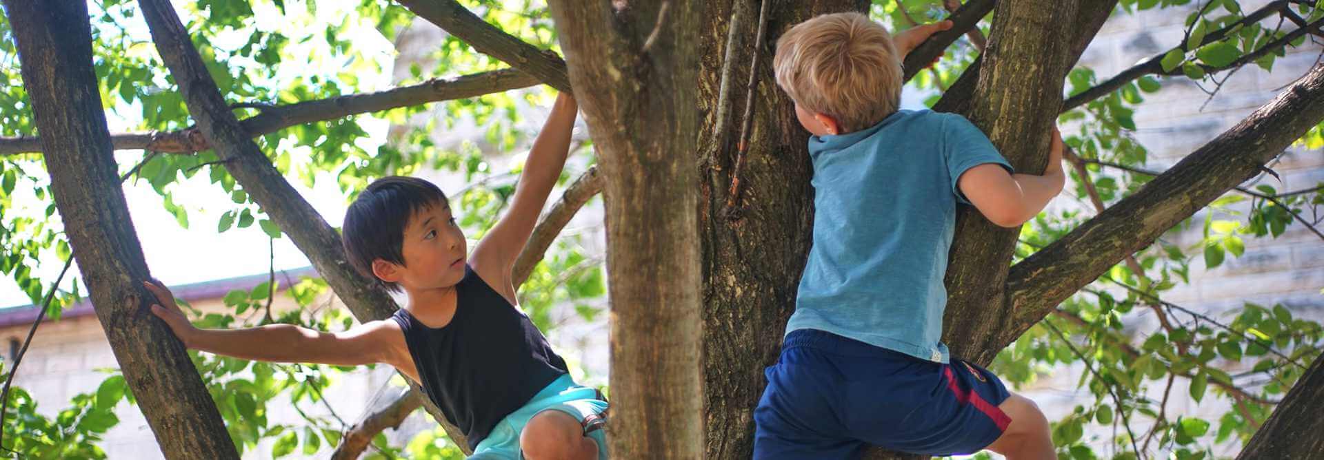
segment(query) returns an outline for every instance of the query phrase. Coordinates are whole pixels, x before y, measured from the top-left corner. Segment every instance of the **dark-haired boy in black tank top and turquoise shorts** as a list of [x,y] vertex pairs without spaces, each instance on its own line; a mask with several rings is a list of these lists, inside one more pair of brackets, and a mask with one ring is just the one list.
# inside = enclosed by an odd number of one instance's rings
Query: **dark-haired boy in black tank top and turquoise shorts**
[[244,360],[339,366],[388,364],[457,423],[470,459],[606,459],[606,401],[576,385],[565,361],[519,311],[511,270],[565,164],[575,99],[561,94],[534,141],[510,211],[474,247],[446,196],[413,177],[373,181],[350,205],[344,251],[356,270],[409,303],[344,332],[289,324],[199,329],[173,296],[152,313],[192,349]]

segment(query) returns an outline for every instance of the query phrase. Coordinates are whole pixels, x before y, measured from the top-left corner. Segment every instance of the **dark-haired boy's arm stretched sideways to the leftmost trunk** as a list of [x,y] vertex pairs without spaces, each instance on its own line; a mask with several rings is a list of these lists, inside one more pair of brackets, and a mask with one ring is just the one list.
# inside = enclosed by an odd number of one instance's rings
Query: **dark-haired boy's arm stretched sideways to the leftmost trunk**
[[338,366],[383,362],[396,367],[408,366],[402,370],[413,370],[413,364],[408,362],[410,358],[404,334],[392,321],[369,321],[344,332],[320,332],[293,324],[269,324],[246,329],[199,329],[188,323],[175,303],[175,296],[166,287],[144,284],[159,300],[152,305],[152,313],[164,320],[184,346],[191,349],[267,362]]

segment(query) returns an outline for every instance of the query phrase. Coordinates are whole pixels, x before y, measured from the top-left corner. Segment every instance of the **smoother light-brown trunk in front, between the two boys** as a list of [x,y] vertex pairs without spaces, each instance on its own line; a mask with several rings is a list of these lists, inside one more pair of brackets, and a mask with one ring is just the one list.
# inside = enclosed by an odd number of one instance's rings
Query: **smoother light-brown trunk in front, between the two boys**
[[703,457],[692,110],[703,7],[549,7],[606,180],[612,456]]

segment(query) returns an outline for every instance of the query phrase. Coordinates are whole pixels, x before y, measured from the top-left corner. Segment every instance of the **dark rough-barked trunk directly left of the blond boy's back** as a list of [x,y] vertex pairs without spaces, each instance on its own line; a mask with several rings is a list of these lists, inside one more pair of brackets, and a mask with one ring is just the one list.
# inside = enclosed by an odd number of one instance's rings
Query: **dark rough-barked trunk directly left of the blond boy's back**
[[[771,1],[771,0],[765,0]],[[708,1],[699,50],[699,241],[703,249],[704,457],[749,459],[753,408],[777,360],[809,255],[813,188],[809,134],[777,87],[777,37],[822,13],[865,11],[869,1],[776,1],[755,87],[753,123],[740,167],[740,198],[727,209],[759,29],[759,1]],[[573,65],[573,61],[572,61]],[[610,177],[610,176],[608,176]],[[613,279],[614,280],[614,279]]]

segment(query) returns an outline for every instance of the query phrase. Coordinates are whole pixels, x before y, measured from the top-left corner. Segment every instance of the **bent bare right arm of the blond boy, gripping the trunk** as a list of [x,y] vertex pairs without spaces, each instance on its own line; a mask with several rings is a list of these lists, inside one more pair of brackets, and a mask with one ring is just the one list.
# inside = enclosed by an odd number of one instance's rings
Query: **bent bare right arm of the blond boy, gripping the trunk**
[[1062,135],[1058,130],[1053,130],[1051,148],[1043,176],[1010,174],[1000,165],[981,164],[961,174],[957,186],[989,222],[1018,227],[1039,214],[1066,182],[1062,172]]

